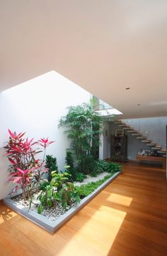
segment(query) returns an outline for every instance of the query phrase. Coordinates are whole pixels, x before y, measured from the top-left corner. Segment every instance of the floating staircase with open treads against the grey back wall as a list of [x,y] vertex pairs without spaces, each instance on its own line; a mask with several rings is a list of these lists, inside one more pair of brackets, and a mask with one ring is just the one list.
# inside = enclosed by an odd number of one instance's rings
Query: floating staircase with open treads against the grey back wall
[[147,139],[141,132],[135,130],[134,127],[127,125],[122,120],[116,120],[115,124],[118,124],[119,127],[122,127],[125,132],[135,136],[136,139],[141,139],[141,142],[146,143],[146,146],[150,146],[152,150],[156,150],[157,153],[161,154],[161,156],[166,157],[166,149],[163,149],[160,145],[156,144],[156,142],[152,142],[151,139]]

